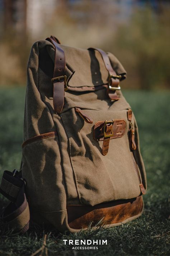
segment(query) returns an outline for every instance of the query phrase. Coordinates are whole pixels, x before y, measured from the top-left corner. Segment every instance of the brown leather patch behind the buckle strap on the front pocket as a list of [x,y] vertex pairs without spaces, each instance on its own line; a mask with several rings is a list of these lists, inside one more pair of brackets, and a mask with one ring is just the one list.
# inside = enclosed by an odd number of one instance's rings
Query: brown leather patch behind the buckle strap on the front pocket
[[[104,122],[99,121],[94,125],[93,138],[95,140],[104,140]],[[112,126],[113,136],[110,136],[110,139],[121,138],[126,130],[126,121],[123,119],[114,120]]]

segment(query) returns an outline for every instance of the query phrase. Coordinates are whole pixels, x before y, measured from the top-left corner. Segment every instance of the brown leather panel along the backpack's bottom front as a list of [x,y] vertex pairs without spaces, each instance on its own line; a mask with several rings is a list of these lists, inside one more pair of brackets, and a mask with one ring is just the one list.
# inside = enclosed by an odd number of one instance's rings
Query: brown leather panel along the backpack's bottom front
[[67,205],[68,223],[73,229],[87,228],[91,221],[96,225],[103,217],[104,225],[121,223],[140,215],[142,210],[142,196],[95,206]]

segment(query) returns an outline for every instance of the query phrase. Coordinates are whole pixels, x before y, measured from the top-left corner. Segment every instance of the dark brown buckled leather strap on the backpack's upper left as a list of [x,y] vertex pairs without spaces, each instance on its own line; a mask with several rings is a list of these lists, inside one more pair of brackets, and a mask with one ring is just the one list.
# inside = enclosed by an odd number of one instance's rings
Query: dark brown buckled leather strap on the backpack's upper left
[[[53,36],[46,40],[50,41],[55,47],[55,61],[53,73],[53,106],[56,113],[61,113],[64,105],[64,89],[66,84],[65,67],[66,58],[63,49],[53,40]],[[56,39],[57,40],[57,39]]]

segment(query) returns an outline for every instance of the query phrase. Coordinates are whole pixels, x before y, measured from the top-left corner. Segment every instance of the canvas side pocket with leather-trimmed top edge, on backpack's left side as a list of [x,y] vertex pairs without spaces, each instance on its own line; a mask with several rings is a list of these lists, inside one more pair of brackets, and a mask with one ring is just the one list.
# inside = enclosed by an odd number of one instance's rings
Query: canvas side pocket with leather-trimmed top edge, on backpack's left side
[[57,133],[41,134],[25,141],[22,153],[22,176],[30,208],[38,211],[65,209],[65,180]]

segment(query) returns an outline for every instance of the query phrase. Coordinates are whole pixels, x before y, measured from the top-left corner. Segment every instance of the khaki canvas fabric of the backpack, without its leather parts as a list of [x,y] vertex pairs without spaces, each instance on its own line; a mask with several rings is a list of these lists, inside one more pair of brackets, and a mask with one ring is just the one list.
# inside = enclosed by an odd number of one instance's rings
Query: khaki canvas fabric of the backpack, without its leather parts
[[[99,203],[140,196],[140,183],[146,189],[146,174],[140,154],[137,123],[137,149],[129,148],[127,111],[130,105],[121,91],[120,99],[111,101],[106,88],[108,71],[98,52],[61,45],[66,55],[65,91],[61,114],[53,109],[54,46],[42,40],[36,42],[28,62],[28,84],[25,99],[22,176],[32,217],[58,230],[71,229],[67,221],[67,205],[94,206]],[[124,78],[126,71],[113,54],[108,54],[112,67]],[[76,88],[76,90],[75,90]],[[78,90],[77,90],[78,88]],[[76,113],[82,109],[93,123],[86,123]],[[105,120],[125,120],[125,133],[110,140],[106,156],[101,153],[103,141],[93,138],[94,124]],[[136,172],[138,168],[139,177]]]

